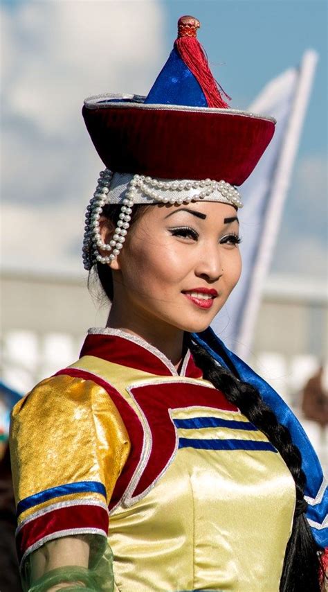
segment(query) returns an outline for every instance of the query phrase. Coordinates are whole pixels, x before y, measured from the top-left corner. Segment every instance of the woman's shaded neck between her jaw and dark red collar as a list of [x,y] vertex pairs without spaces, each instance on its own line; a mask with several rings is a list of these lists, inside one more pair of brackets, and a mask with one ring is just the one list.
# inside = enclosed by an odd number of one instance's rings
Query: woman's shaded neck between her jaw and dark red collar
[[183,335],[182,329],[177,329],[165,322],[156,322],[150,319],[146,313],[145,316],[139,315],[121,315],[120,307],[115,305],[115,301],[111,306],[109,317],[107,320],[107,327],[112,329],[120,329],[125,333],[130,333],[147,341],[150,345],[156,347],[162,352],[172,364],[178,368],[183,354]]

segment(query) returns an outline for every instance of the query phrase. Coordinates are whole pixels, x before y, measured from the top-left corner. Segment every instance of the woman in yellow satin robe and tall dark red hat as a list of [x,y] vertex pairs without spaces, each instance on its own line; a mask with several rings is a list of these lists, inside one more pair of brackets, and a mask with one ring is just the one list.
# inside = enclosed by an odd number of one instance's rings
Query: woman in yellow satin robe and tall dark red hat
[[198,26],[180,19],[143,103],[84,105],[107,166],[84,266],[112,304],[80,360],[13,412],[17,542],[33,592],[322,584],[325,529],[305,517],[294,441],[314,467],[307,499],[319,515],[316,457],[284,403],[208,330],[241,271],[235,185],[274,122],[226,108]]

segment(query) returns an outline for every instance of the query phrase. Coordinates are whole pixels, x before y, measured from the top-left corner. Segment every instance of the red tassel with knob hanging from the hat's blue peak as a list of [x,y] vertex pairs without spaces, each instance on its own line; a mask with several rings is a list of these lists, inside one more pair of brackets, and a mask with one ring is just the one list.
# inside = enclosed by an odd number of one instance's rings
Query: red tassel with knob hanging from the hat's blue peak
[[199,28],[197,19],[194,17],[181,17],[178,21],[178,38],[175,40],[174,45],[185,65],[201,85],[208,107],[227,109],[228,104],[219,92],[217,81],[213,78],[208,67],[206,54],[197,40],[197,28]]

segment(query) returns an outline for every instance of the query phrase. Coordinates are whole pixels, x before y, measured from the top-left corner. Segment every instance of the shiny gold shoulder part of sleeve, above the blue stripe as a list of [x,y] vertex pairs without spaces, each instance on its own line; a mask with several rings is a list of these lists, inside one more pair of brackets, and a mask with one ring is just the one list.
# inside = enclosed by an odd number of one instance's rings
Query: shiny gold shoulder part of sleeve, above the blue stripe
[[[46,378],[12,410],[10,454],[17,500],[80,480],[107,481],[130,449],[125,424],[107,390],[91,380]],[[78,477],[79,475],[79,477]],[[113,483],[107,487],[111,490]]]

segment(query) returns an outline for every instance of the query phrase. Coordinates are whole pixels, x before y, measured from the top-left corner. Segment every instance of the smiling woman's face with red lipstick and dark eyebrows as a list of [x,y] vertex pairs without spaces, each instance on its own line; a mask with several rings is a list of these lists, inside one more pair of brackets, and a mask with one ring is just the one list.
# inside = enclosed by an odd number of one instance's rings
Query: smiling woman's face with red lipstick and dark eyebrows
[[228,204],[147,208],[111,263],[113,307],[153,330],[203,331],[239,279],[238,241],[237,213]]

